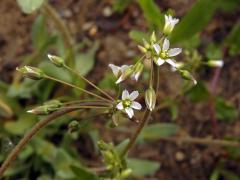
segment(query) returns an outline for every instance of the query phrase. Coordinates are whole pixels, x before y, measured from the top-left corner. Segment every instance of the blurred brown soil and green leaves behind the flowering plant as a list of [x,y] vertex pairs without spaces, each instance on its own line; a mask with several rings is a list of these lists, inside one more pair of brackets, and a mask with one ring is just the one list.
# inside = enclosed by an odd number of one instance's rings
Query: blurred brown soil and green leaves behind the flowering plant
[[[129,179],[240,179],[239,147],[184,141],[186,137],[240,141],[239,0],[1,0],[0,162],[43,118],[27,110],[51,99],[86,96],[49,80],[24,79],[17,66],[39,67],[72,82],[71,74],[47,59],[48,53],[56,54],[117,95],[108,64],[135,62],[142,38],[153,30],[161,32],[164,13],[180,19],[171,43],[183,48],[177,60],[185,63],[198,84],[184,86],[177,73],[165,65],[161,68],[157,110],[129,154],[133,169]],[[223,60],[224,66],[210,67],[209,60]],[[145,72],[139,83],[127,80],[123,87],[143,93],[147,78]],[[92,90],[81,80],[74,82]],[[139,101],[144,104],[144,96]],[[69,130],[72,121],[79,122],[74,132]],[[87,179],[71,166],[99,167],[96,142],[118,144],[136,127],[128,120],[114,129],[106,124],[106,117],[92,110],[59,118],[30,141],[3,179]]]

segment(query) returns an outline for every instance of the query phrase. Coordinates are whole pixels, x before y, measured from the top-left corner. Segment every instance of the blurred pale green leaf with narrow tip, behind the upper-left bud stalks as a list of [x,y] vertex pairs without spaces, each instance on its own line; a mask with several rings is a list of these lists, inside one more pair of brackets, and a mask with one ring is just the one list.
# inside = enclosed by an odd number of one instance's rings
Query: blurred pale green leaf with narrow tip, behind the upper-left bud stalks
[[77,54],[76,69],[82,76],[87,75],[93,68],[95,53],[99,48],[99,43],[95,42],[90,50],[85,54]]

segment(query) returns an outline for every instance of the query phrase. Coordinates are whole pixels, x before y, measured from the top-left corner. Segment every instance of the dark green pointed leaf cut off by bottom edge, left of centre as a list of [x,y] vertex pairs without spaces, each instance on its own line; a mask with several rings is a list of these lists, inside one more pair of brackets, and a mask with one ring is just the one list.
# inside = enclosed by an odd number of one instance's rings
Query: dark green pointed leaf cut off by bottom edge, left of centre
[[77,166],[70,166],[72,172],[75,174],[77,179],[86,179],[86,180],[98,180],[96,174],[88,171],[85,168],[77,167]]

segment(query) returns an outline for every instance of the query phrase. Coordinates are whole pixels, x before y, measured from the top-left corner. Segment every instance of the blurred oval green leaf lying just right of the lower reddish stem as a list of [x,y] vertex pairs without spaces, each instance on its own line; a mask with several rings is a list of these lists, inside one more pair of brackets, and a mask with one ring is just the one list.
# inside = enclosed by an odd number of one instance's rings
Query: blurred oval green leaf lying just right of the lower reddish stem
[[142,135],[146,140],[154,140],[161,137],[176,135],[180,127],[173,123],[150,124],[143,129]]

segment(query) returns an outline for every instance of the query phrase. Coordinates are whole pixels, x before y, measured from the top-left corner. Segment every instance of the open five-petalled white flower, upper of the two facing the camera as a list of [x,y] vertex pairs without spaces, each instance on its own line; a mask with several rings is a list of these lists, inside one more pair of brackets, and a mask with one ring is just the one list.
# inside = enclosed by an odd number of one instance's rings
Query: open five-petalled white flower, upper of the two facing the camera
[[172,59],[172,57],[177,56],[182,52],[181,48],[172,48],[169,49],[170,42],[167,38],[164,39],[162,47],[158,44],[154,44],[153,48],[156,51],[157,58],[154,59],[155,63],[158,66],[161,66],[165,62],[170,64],[172,67],[176,68],[176,62]]

